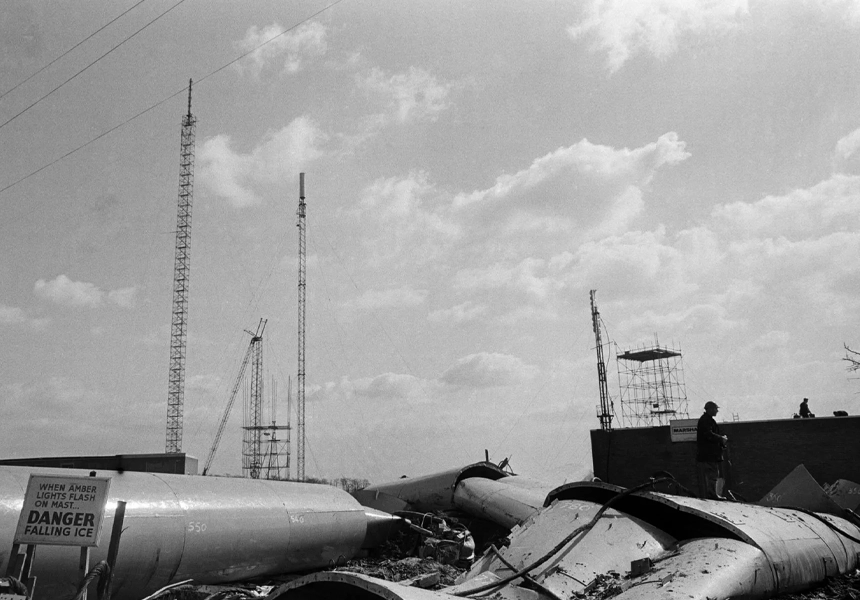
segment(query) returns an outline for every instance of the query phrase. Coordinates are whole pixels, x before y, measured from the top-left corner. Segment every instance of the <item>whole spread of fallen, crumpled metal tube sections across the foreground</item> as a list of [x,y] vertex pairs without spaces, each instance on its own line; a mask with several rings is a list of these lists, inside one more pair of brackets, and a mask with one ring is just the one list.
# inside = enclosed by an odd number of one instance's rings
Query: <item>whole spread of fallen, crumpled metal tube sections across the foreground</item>
[[[12,545],[35,472],[72,474],[0,467],[0,572],[13,558],[2,549]],[[283,573],[304,575],[269,600],[558,600],[587,595],[608,577],[619,600],[758,599],[860,566],[860,486],[840,480],[825,491],[802,467],[758,504],[668,493],[679,491],[671,478],[627,490],[602,482],[552,487],[489,462],[354,496],[313,484],[105,474],[112,477],[108,526],[117,502],[127,502],[114,600],[186,579],[217,584]],[[467,525],[449,536],[457,547],[451,560],[472,558],[470,531],[487,547],[456,585],[427,590],[338,569],[404,528],[439,535],[416,515],[433,515],[446,530],[446,519]],[[500,547],[489,543],[499,536]],[[104,552],[95,549],[93,560]],[[40,547],[34,597],[72,597],[76,567],[75,549]]]

